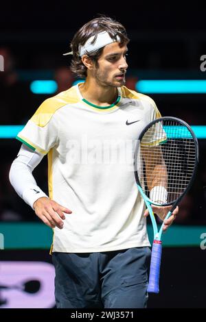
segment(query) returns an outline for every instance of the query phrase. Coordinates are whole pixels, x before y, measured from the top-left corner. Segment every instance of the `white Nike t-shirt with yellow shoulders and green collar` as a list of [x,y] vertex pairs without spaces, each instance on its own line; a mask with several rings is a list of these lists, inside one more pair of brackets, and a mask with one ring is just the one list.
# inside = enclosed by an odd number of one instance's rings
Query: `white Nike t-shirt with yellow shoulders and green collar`
[[54,229],[52,251],[149,246],[133,152],[141,130],[161,115],[150,97],[125,86],[108,107],[83,99],[78,86],[45,100],[16,137],[48,153],[49,197],[72,210]]

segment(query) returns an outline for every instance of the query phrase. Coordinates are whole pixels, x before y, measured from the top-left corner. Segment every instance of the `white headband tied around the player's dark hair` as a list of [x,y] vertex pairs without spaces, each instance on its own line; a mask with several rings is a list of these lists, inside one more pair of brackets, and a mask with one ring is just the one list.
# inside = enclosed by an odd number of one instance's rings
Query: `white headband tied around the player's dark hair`
[[[95,42],[91,44],[94,37],[95,36],[91,36],[83,46],[79,47],[80,57],[82,57],[82,55],[84,55],[85,53],[91,53],[92,51],[98,50],[106,45],[111,44],[112,42],[120,41],[119,36],[116,36],[117,40],[115,40],[111,38],[111,36],[109,36],[108,32],[100,32]],[[64,53],[63,55],[72,55],[72,51],[70,51],[69,53]]]

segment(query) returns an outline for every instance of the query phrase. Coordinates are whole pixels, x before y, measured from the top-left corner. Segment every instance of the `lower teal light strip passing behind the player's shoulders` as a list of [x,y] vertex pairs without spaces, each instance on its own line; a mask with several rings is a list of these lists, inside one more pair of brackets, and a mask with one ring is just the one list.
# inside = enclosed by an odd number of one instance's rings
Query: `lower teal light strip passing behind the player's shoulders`
[[[0,125],[0,138],[16,138],[24,125]],[[197,138],[206,138],[206,125],[192,125]]]

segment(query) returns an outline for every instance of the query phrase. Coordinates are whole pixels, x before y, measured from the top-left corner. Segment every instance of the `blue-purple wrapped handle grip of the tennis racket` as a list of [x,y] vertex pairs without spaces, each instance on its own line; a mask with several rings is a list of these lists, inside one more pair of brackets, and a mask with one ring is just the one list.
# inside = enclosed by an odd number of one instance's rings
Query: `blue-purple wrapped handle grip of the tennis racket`
[[150,262],[150,277],[148,293],[159,293],[159,271],[161,264],[161,240],[154,240],[152,245],[152,257]]

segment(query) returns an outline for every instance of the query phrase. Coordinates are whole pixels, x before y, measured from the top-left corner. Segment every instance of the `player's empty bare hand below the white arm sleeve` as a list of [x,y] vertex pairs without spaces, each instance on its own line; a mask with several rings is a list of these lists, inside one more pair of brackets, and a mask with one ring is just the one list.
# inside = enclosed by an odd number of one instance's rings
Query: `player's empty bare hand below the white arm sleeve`
[[34,210],[38,218],[47,226],[54,228],[58,227],[62,229],[64,222],[61,219],[65,219],[65,214],[71,214],[71,210],[61,206],[54,200],[47,197],[41,197],[34,202]]

